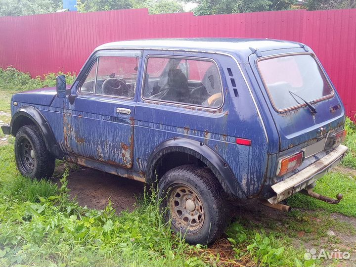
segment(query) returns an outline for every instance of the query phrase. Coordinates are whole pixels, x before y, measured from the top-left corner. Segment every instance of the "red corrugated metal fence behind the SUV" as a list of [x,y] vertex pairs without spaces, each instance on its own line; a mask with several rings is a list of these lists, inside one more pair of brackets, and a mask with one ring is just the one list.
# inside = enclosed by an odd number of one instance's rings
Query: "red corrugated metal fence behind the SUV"
[[356,111],[356,9],[229,15],[149,15],[147,9],[0,17],[0,67],[31,75],[78,72],[103,43],[147,38],[246,37],[306,43],[320,58],[349,116]]

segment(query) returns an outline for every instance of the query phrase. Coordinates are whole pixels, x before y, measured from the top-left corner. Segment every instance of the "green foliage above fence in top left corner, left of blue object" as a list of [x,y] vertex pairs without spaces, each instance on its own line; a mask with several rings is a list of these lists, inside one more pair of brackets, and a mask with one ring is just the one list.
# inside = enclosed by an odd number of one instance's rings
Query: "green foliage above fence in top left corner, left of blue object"
[[62,8],[62,0],[0,0],[0,16],[51,13]]

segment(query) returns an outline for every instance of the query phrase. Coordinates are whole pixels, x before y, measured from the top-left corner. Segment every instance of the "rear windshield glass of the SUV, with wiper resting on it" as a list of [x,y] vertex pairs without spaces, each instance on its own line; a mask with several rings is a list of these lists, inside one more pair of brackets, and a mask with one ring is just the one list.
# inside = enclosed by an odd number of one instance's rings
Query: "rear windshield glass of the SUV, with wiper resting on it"
[[310,54],[279,56],[258,62],[262,79],[274,107],[287,110],[333,94],[333,90]]

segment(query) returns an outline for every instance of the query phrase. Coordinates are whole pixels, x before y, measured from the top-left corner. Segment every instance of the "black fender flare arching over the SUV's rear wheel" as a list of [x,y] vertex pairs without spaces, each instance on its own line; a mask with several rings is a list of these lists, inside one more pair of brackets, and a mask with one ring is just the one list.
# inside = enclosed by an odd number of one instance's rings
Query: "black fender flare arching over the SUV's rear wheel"
[[218,178],[223,190],[229,197],[246,198],[231,168],[214,149],[204,142],[184,137],[167,139],[152,151],[147,161],[146,182],[156,182],[154,177],[157,163],[161,157],[171,152],[183,152],[198,158]]

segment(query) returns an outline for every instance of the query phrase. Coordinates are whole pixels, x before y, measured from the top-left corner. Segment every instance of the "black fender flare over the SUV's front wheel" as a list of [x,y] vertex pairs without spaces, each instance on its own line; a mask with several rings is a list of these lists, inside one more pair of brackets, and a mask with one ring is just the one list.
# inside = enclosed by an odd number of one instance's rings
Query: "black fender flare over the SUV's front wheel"
[[33,106],[23,105],[11,118],[10,133],[16,135],[21,125],[21,117],[30,119],[39,129],[45,140],[48,151],[57,159],[63,159],[64,154],[59,148],[52,129],[42,113]]

